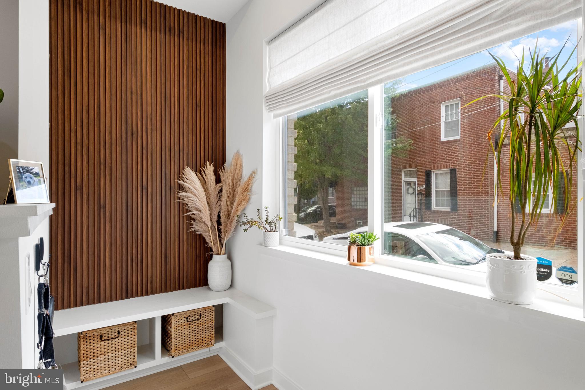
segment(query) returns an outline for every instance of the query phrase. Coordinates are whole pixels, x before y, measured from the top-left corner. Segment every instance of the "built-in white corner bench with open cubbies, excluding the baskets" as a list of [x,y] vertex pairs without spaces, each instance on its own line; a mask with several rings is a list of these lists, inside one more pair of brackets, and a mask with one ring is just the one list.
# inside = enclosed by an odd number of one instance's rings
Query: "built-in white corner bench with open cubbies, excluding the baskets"
[[[216,306],[219,319],[215,345],[168,357],[161,341],[161,316],[212,305]],[[208,287],[57,310],[53,322],[57,363],[62,364],[67,389],[98,389],[219,354],[247,385],[259,389],[271,383],[275,314],[273,307],[235,288],[214,292]],[[130,321],[138,323],[137,367],[81,382],[77,332]]]

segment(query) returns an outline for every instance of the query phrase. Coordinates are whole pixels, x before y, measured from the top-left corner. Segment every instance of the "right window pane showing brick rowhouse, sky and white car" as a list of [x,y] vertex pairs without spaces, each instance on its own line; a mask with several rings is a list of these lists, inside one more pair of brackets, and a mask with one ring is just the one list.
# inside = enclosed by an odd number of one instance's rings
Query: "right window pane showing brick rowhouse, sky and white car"
[[[548,51],[552,57],[567,38],[569,46],[577,43],[576,22],[521,37],[488,51],[502,58],[509,70],[514,70],[522,50],[527,55],[529,50],[534,50],[537,37],[539,50]],[[505,196],[509,194],[508,168],[501,167],[503,191],[494,194],[494,157],[487,137],[494,124],[499,123],[500,100],[487,98],[473,102],[480,96],[497,93],[506,85],[500,83],[505,76],[488,51],[384,85],[384,115],[392,116],[394,129],[392,139],[387,136],[388,130],[385,131],[383,253],[404,256],[400,245],[388,242],[395,234],[401,234],[427,251],[429,256],[425,257],[439,265],[484,272],[487,253],[512,250],[511,206]],[[569,58],[570,49],[565,52],[563,60]],[[573,56],[572,66],[577,64],[576,54]],[[496,129],[500,128],[496,125]],[[571,134],[569,129],[566,139],[558,141],[574,143]],[[501,153],[509,154],[509,147],[504,147]],[[416,168],[417,178],[407,181],[404,172],[412,168]],[[406,191],[415,180],[417,192]],[[571,189],[574,205],[578,182],[579,178],[574,177]],[[563,215],[562,208],[551,208],[553,191],[564,189],[549,188],[543,194],[541,218],[526,234],[522,253],[550,260],[555,268],[568,266],[577,270],[577,234],[582,234],[579,216],[576,209]],[[416,205],[417,211],[410,215],[416,218],[405,218],[405,209],[412,205]],[[522,212],[515,206],[517,222],[522,219]],[[562,218],[565,227],[559,231]],[[405,221],[411,225],[407,226]],[[428,263],[418,254],[407,257]],[[554,275],[546,282],[560,285]]]

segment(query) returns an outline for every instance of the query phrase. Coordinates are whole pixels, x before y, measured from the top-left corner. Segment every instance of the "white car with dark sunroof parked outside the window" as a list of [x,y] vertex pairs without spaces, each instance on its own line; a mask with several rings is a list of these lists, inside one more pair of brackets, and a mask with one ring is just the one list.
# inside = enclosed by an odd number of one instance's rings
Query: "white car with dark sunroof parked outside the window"
[[[323,242],[347,246],[349,233],[364,232],[367,232],[367,226],[325,237]],[[384,223],[384,253],[481,272],[486,272],[486,254],[512,254],[509,251],[490,248],[480,240],[453,227],[432,222]],[[554,277],[555,271],[556,268],[553,267],[553,276],[546,282],[561,284]]]

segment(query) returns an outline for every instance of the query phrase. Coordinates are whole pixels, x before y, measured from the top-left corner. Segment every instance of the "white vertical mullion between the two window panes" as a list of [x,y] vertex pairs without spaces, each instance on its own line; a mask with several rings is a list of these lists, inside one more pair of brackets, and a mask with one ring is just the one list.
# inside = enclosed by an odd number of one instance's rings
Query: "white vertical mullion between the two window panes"
[[[368,89],[368,231],[383,237],[384,205],[382,199],[384,85]],[[380,256],[381,241],[374,243],[374,256]]]

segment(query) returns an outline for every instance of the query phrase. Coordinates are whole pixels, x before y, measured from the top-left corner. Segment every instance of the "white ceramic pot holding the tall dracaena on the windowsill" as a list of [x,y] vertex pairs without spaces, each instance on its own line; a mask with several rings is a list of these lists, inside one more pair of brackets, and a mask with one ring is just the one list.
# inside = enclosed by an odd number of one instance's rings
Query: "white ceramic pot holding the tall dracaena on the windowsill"
[[536,259],[510,260],[504,254],[487,255],[486,287],[491,299],[530,305],[536,295]]

